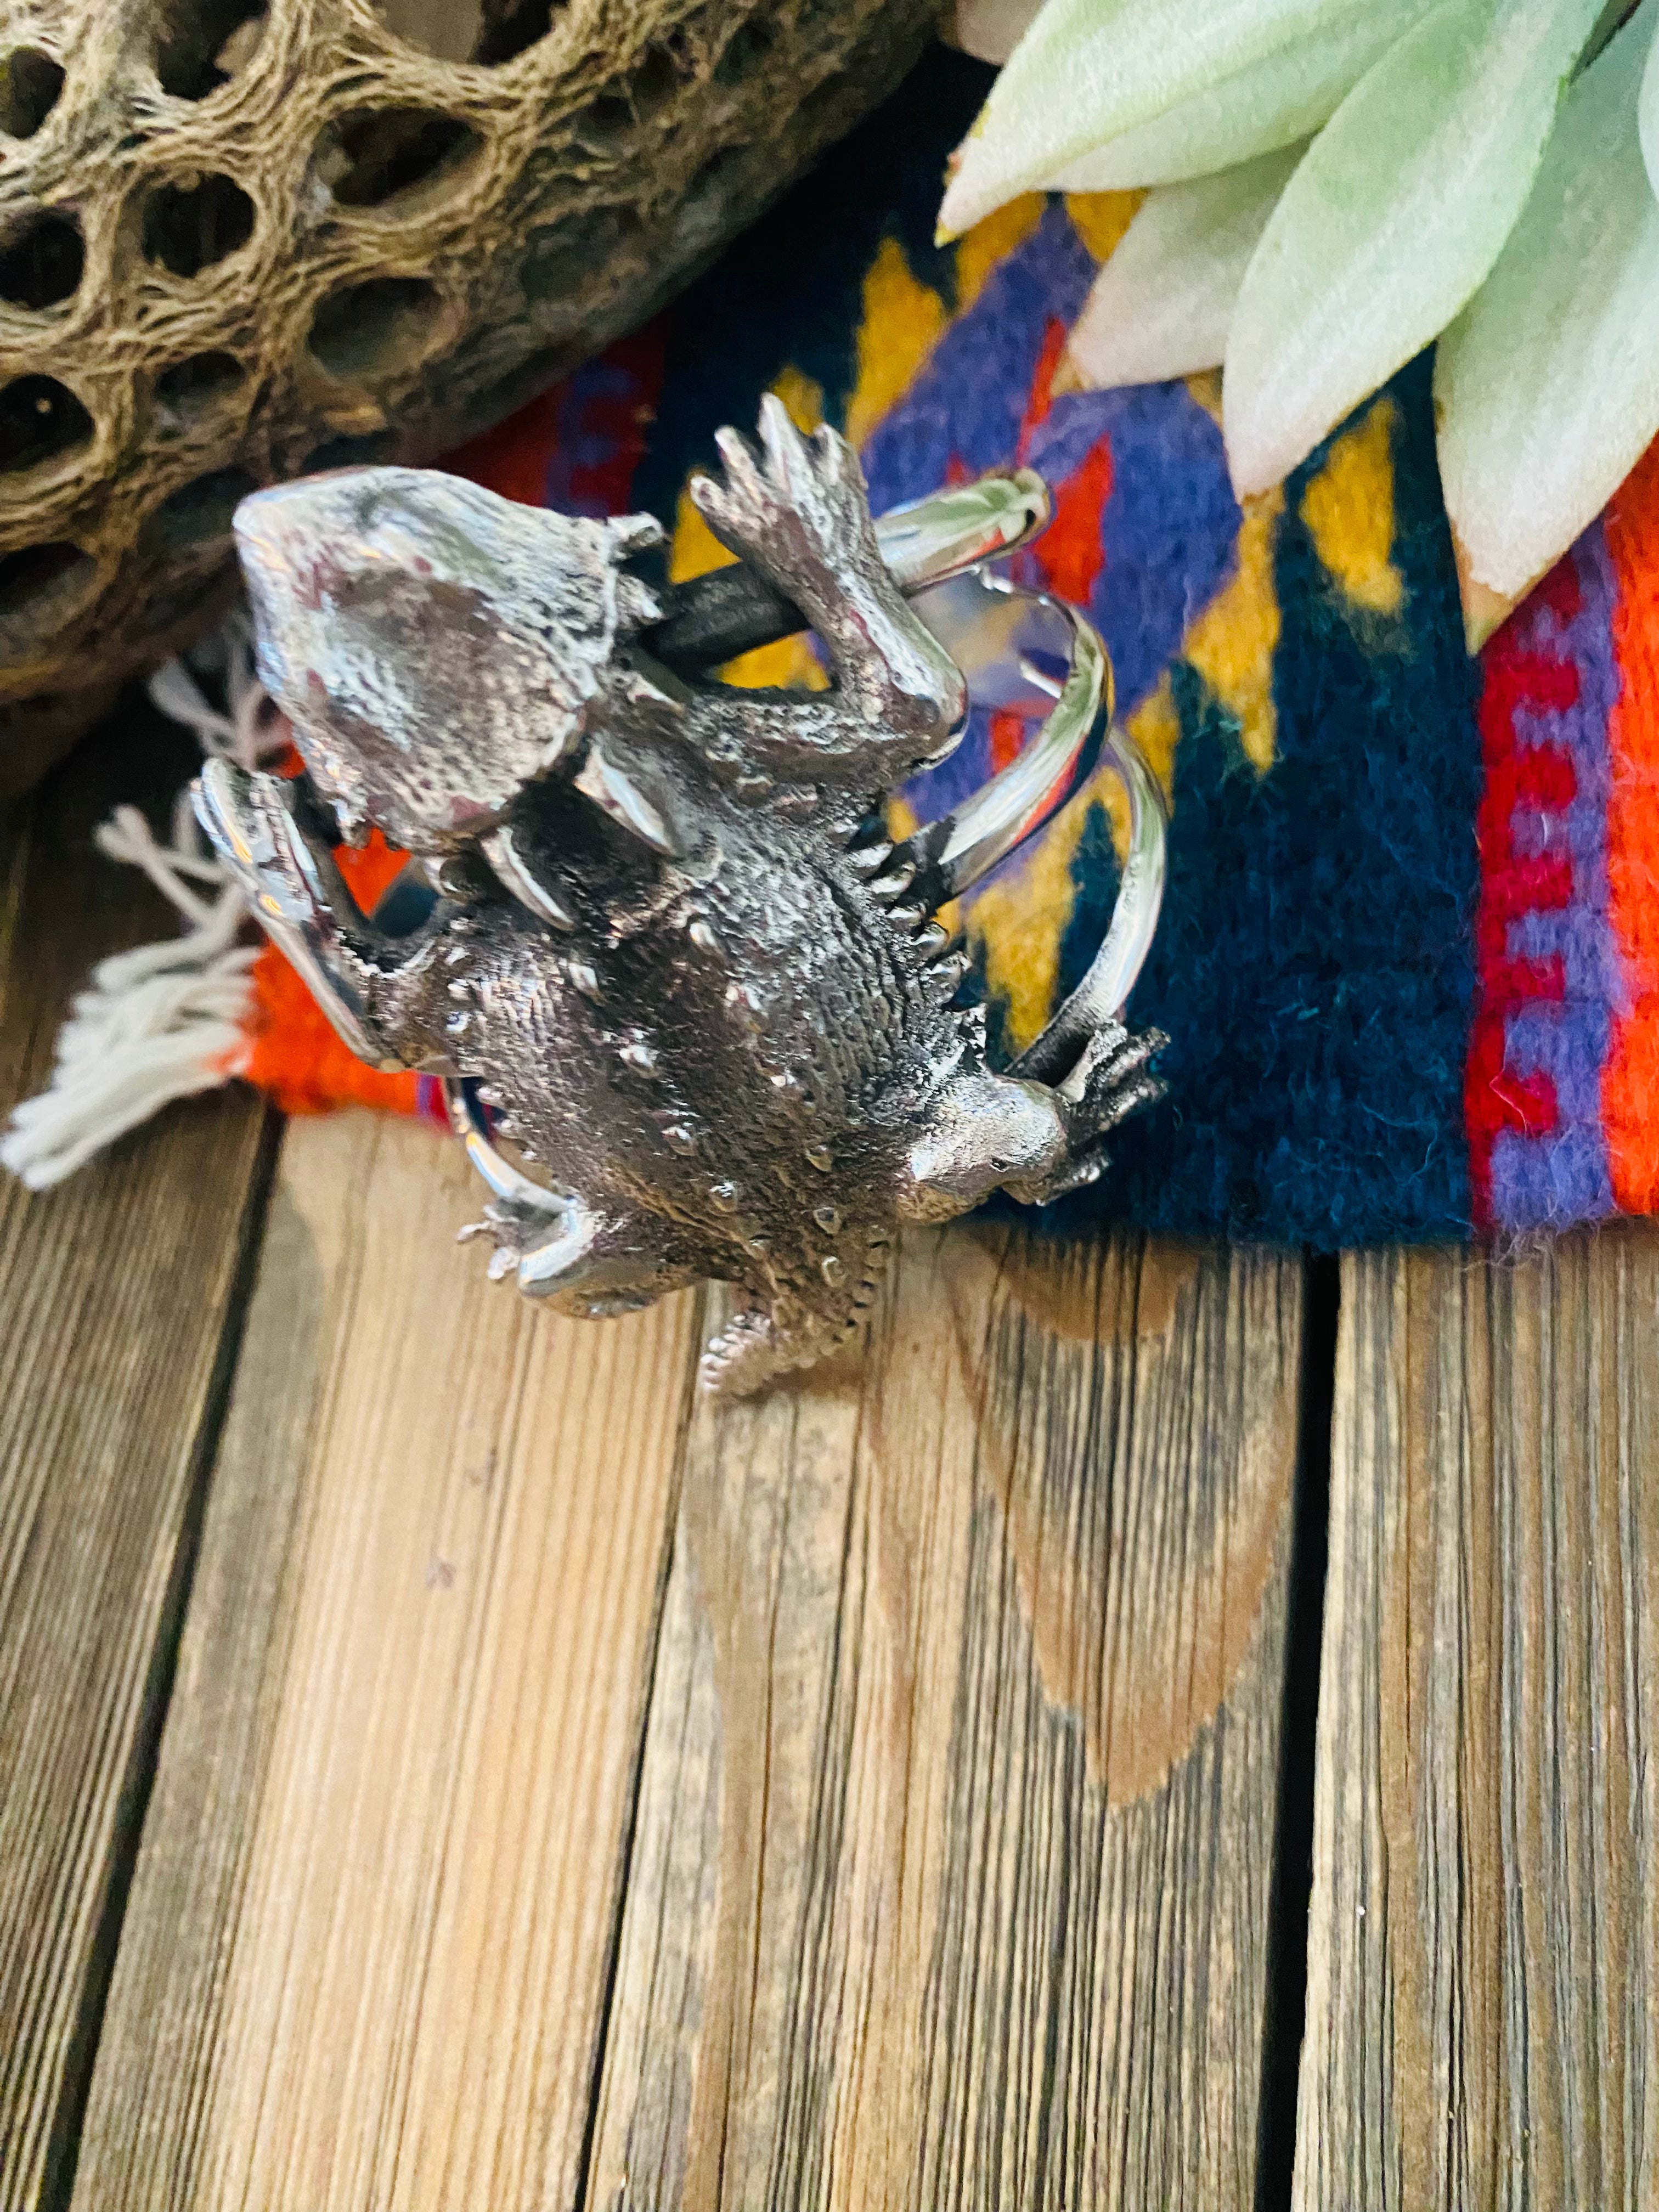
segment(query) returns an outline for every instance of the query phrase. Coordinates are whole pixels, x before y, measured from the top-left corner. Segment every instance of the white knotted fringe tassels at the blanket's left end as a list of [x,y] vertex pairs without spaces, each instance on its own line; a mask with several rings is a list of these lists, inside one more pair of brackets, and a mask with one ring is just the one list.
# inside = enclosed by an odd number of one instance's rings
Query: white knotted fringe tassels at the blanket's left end
[[[204,752],[259,765],[288,741],[254,677],[248,626],[232,615],[197,666],[219,664],[230,712],[221,714],[181,659],[150,679],[164,714],[197,732]],[[212,1091],[237,1073],[252,1011],[250,967],[239,945],[248,902],[215,860],[190,812],[173,807],[173,843],[157,843],[137,807],[117,807],[95,832],[100,852],[142,867],[177,907],[186,929],[159,945],[113,953],[93,969],[58,1037],[51,1086],[27,1099],[0,1135],[0,1166],[31,1190],[73,1175],[168,1099]]]

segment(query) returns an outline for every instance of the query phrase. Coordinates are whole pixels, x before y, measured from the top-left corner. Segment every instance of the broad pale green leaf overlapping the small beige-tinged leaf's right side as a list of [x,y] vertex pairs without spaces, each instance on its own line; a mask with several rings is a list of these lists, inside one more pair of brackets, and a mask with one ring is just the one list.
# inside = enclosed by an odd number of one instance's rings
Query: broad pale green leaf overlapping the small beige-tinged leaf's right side
[[1287,476],[1491,272],[1599,0],[1442,0],[1354,86],[1239,292],[1223,409],[1239,491]]

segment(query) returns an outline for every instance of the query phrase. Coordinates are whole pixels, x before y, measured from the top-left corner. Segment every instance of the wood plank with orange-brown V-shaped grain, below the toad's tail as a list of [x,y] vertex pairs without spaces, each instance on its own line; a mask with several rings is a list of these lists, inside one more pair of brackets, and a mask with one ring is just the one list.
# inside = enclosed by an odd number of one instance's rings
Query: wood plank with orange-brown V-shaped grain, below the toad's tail
[[586,2201],[1250,2208],[1301,1263],[909,1241],[701,1405]]

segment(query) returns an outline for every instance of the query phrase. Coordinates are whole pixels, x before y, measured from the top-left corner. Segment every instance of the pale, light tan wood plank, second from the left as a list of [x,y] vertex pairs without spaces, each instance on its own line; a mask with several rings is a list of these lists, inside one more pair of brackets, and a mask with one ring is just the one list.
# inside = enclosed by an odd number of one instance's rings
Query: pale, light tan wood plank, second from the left
[[697,1312],[538,1314],[469,1210],[288,1133],[77,2205],[573,2203]]

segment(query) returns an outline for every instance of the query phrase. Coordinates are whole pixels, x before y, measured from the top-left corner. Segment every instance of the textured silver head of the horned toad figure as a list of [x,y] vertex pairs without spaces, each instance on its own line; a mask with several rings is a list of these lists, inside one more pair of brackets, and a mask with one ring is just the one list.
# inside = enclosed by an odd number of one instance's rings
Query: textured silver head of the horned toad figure
[[456,852],[571,754],[661,533],[434,469],[345,469],[237,509],[259,675],[341,834]]

